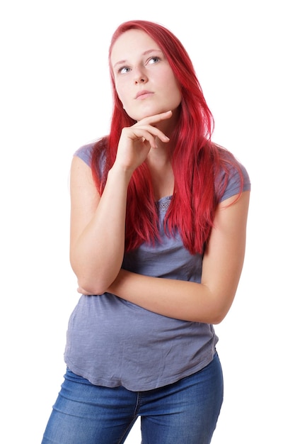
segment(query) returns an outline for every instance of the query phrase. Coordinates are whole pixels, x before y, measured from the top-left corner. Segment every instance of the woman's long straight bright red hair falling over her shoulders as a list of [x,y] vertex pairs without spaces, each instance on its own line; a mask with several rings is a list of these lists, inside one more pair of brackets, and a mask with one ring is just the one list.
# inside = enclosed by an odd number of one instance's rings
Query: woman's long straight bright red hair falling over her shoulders
[[[229,167],[237,165],[237,162],[228,151],[212,143],[212,113],[204,99],[187,51],[170,30],[149,21],[122,23],[112,35],[109,62],[115,41],[130,29],[143,30],[157,43],[180,84],[182,101],[179,121],[170,138],[175,147],[172,154],[175,185],[166,213],[166,232],[173,235],[178,231],[187,250],[192,254],[202,253],[213,226],[216,205],[226,187],[226,180],[223,180],[222,184],[218,183],[219,172],[221,169],[229,172]],[[110,135],[96,143],[91,162],[93,177],[100,194],[105,187],[108,170],[115,162],[122,128],[135,123],[127,115],[117,96],[111,66],[110,78],[114,101]],[[158,211],[154,202],[149,168],[144,162],[134,171],[129,182],[126,250],[138,248],[144,241],[154,243],[157,239]]]

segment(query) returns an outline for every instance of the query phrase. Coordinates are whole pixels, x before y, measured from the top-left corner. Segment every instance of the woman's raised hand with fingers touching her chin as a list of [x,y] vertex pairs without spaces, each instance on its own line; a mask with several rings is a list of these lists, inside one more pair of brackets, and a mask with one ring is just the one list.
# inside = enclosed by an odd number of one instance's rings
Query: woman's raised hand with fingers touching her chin
[[168,143],[169,138],[161,130],[154,126],[156,123],[172,116],[172,111],[156,114],[141,119],[132,126],[122,129],[115,165],[120,165],[125,170],[134,170],[146,160],[151,148],[157,148],[156,138],[163,143]]

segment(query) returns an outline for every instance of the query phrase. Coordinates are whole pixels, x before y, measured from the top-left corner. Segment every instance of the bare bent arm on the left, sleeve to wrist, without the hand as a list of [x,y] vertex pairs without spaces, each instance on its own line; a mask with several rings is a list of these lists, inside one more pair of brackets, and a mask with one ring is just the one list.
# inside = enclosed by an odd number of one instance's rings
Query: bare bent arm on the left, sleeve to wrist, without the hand
[[122,266],[129,179],[129,172],[113,167],[100,197],[91,168],[72,160],[70,262],[88,292],[105,292]]

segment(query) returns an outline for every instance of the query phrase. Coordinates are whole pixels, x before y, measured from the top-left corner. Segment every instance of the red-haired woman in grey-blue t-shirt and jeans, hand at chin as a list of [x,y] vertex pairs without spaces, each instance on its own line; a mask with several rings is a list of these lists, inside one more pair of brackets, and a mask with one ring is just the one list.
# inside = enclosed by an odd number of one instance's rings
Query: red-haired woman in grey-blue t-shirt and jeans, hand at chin
[[223,400],[213,324],[236,294],[250,182],[211,140],[192,62],[169,30],[123,23],[109,53],[110,135],[71,166],[62,390],[42,443],[210,443]]

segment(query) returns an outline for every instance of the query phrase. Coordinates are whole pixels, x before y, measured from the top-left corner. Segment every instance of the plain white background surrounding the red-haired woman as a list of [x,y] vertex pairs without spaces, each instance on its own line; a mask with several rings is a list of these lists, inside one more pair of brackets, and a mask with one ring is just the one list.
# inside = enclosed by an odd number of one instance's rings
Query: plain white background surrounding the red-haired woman
[[[39,444],[62,383],[79,297],[68,252],[71,156],[108,133],[110,36],[134,18],[183,42],[214,140],[252,181],[243,275],[216,326],[225,399],[212,443],[295,442],[291,3],[1,2],[1,443]],[[139,424],[126,442],[140,442]]]

